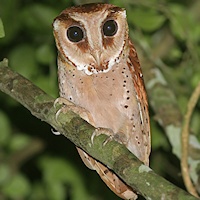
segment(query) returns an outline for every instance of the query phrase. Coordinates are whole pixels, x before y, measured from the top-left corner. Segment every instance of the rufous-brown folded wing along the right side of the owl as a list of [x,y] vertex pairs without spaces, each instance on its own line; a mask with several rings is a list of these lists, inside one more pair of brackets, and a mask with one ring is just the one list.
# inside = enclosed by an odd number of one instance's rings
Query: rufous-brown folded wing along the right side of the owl
[[148,165],[149,164],[149,154],[151,150],[151,135],[150,135],[150,120],[148,112],[148,101],[147,94],[144,86],[143,75],[140,67],[140,62],[136,53],[136,50],[133,46],[133,43],[129,40],[130,52],[127,59],[127,65],[129,67],[135,92],[136,99],[138,102],[138,109],[140,112],[141,120],[141,135],[143,136],[143,149],[144,156],[142,161]]

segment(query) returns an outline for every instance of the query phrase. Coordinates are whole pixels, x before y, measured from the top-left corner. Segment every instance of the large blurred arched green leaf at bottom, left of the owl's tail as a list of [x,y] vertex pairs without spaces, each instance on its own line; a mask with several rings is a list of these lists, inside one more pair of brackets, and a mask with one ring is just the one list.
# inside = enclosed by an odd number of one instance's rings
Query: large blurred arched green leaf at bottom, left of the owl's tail
[[44,181],[47,184],[48,196],[51,200],[61,198],[66,193],[68,185],[73,190],[72,199],[89,200],[82,176],[72,163],[60,158],[43,157],[39,161],[39,166],[43,171]]

